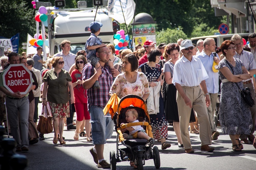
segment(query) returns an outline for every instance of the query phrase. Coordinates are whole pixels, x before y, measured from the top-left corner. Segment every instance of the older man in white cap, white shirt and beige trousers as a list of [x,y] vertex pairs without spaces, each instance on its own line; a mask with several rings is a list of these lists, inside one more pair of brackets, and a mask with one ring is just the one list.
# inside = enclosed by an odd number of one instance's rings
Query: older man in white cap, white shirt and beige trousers
[[191,108],[197,112],[200,124],[201,151],[213,152],[211,128],[208,118],[207,107],[211,100],[205,84],[208,74],[199,58],[193,57],[193,46],[191,40],[185,39],[181,42],[183,56],[175,63],[172,83],[177,93],[177,105],[180,117],[181,138],[186,153],[194,153],[192,149],[188,125]]

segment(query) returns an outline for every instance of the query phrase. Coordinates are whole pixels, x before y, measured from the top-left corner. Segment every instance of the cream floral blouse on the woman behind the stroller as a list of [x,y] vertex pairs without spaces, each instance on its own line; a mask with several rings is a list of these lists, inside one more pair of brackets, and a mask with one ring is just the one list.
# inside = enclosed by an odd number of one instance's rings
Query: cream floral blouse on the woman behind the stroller
[[129,83],[126,80],[125,73],[117,75],[109,93],[116,93],[120,99],[129,94],[137,95],[142,98],[144,94],[149,94],[149,91],[146,76],[142,72],[138,72],[137,79],[134,83]]

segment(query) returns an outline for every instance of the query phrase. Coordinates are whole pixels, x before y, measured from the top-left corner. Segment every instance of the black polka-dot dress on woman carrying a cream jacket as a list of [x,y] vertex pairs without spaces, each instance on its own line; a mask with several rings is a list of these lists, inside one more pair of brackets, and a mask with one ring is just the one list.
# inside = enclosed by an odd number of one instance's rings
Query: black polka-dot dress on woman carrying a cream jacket
[[[150,68],[148,63],[140,65],[143,73],[145,73],[148,82],[157,82],[159,76],[161,75],[161,66],[156,64],[156,67]],[[168,126],[165,119],[163,98],[160,93],[159,98],[159,113],[150,115],[150,122],[152,126],[152,132],[154,139],[168,138]]]

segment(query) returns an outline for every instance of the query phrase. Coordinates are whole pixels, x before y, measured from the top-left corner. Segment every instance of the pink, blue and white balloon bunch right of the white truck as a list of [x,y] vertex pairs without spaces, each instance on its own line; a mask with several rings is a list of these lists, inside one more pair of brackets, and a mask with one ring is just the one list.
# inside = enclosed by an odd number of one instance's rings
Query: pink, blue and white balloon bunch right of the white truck
[[115,45],[115,51],[116,55],[118,55],[119,50],[127,49],[128,41],[129,41],[129,35],[125,35],[125,31],[122,29],[120,31],[117,31],[114,35],[114,45]]

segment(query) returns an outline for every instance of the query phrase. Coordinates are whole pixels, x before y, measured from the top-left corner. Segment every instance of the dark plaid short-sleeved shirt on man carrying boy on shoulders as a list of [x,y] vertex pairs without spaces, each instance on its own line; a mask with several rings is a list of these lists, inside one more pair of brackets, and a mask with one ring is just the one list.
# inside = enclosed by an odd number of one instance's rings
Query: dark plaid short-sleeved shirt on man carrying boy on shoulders
[[[104,67],[101,67],[101,71],[102,73],[99,76],[100,89],[91,87],[87,90],[88,110],[93,105],[104,108],[110,99],[109,91],[113,83],[112,73],[107,64],[105,64]],[[82,73],[83,80],[91,78],[94,75],[94,66],[90,63],[86,64]]]

